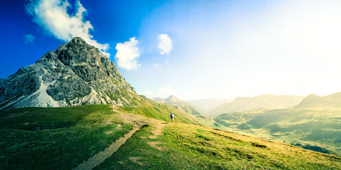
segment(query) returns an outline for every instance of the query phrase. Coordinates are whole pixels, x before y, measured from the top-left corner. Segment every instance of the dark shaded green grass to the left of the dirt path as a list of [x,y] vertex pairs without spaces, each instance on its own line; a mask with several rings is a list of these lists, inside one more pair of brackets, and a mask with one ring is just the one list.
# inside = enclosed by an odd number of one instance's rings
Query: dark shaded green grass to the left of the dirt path
[[21,108],[0,114],[0,169],[72,169],[133,128],[109,106]]

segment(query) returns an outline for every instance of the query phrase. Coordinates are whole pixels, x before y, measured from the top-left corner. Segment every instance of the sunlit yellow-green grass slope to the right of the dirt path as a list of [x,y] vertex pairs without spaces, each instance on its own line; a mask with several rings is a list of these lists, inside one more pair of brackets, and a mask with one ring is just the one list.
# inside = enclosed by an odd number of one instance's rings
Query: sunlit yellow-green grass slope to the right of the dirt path
[[[340,169],[340,157],[232,132],[168,123],[137,132],[100,169]],[[154,143],[156,145],[151,145]]]

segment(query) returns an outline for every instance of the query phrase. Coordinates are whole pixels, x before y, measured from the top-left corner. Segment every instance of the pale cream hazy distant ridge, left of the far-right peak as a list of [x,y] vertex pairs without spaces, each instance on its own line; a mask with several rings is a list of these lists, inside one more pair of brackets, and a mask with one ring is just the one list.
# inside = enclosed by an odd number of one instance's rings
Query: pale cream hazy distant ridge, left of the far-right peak
[[303,97],[294,95],[260,95],[256,97],[236,97],[230,103],[222,104],[208,112],[208,117],[217,117],[219,114],[229,112],[242,112],[256,109],[280,109],[295,106]]

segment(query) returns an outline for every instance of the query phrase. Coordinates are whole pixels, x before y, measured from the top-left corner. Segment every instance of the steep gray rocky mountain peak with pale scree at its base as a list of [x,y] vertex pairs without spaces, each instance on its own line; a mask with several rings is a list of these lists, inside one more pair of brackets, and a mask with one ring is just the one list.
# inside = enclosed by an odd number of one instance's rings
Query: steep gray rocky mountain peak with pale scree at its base
[[78,37],[45,53],[36,64],[0,79],[0,110],[82,104],[130,106],[141,100],[115,63]]

